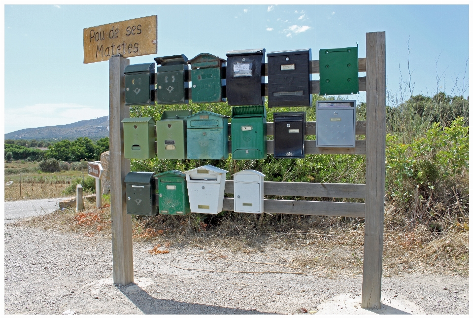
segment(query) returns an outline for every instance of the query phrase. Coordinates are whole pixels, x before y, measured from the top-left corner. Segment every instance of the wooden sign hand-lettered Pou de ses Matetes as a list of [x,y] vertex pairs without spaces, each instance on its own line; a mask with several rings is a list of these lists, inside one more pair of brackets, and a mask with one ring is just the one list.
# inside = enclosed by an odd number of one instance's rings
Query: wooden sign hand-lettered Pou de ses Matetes
[[158,53],[157,16],[84,29],[84,64],[107,61],[112,55],[133,57]]

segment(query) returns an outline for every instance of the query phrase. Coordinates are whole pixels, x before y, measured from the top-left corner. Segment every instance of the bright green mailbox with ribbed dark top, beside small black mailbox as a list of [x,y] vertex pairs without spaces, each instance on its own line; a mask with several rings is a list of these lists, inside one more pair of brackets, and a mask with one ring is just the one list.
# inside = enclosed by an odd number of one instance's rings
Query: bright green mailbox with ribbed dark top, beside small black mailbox
[[232,158],[266,159],[266,108],[232,107]]

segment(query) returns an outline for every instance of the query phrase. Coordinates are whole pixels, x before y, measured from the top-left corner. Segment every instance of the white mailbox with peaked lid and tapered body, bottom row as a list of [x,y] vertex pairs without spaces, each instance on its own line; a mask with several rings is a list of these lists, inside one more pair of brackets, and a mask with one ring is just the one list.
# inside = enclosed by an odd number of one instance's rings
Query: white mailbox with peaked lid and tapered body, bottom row
[[227,172],[210,165],[185,172],[191,212],[222,212]]

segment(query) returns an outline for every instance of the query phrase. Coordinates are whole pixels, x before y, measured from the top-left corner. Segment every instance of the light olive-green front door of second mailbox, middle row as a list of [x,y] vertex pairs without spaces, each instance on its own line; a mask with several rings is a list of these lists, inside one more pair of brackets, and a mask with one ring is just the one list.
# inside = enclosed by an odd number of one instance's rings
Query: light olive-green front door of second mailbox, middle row
[[159,159],[186,159],[186,123],[183,120],[156,122]]

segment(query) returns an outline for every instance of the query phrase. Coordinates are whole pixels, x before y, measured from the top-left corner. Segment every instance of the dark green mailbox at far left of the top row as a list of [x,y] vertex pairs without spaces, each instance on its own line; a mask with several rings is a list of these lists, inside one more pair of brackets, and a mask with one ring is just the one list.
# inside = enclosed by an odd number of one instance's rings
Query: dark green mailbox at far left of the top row
[[154,62],[125,68],[125,105],[154,105]]

